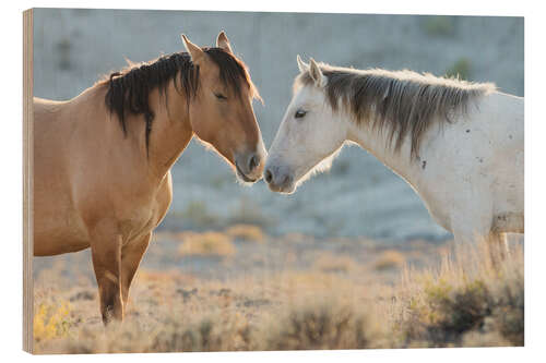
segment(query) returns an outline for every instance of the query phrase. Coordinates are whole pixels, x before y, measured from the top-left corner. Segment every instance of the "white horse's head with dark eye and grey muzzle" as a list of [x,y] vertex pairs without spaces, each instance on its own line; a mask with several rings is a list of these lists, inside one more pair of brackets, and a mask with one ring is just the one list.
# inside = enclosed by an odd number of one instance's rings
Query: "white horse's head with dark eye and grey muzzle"
[[[274,192],[294,193],[314,172],[330,168],[347,137],[347,123],[332,110],[324,86],[328,77],[311,58],[297,57],[300,75],[269,152],[264,179]],[[307,80],[300,82],[298,80]],[[309,82],[310,81],[310,82]]]

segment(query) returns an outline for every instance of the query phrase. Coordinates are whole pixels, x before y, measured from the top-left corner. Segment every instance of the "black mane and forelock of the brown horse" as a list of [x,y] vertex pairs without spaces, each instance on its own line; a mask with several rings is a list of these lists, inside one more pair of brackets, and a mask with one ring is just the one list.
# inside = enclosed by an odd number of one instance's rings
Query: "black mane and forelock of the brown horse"
[[[254,97],[260,97],[256,90],[245,63],[221,48],[202,48],[219,69],[222,83],[240,95],[244,85],[250,87]],[[154,61],[111,73],[102,84],[107,84],[105,96],[106,107],[115,112],[127,135],[126,117],[142,114],[146,122],[146,150],[150,144],[150,133],[154,120],[154,110],[150,107],[150,93],[155,88],[166,96],[169,81],[174,80],[175,88],[183,94],[188,104],[199,89],[199,65],[193,64],[187,52],[163,56]],[[167,104],[167,100],[165,100]]]

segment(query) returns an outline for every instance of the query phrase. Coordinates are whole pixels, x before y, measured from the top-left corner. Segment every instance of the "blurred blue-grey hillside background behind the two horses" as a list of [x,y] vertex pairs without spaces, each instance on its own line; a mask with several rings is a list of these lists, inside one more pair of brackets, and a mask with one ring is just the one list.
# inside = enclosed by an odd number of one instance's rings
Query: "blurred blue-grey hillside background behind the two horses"
[[[296,55],[358,69],[458,74],[523,96],[523,17],[37,9],[34,22],[35,96],[58,100],[75,97],[126,59],[181,51],[181,33],[213,46],[224,29],[264,99],[254,111],[266,147],[292,98]],[[174,201],[159,231],[247,225],[271,237],[365,238],[383,246],[451,238],[403,180],[357,147],[345,147],[329,173],[289,196],[263,181],[241,186],[195,141],[173,177]]]

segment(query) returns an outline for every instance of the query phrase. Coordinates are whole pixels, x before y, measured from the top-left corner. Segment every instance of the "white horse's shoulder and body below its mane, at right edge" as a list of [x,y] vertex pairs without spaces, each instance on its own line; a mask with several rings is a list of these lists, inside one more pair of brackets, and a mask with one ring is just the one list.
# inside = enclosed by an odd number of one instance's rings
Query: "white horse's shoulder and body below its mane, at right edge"
[[523,99],[491,93],[475,106],[429,130],[408,180],[455,235],[523,232]]

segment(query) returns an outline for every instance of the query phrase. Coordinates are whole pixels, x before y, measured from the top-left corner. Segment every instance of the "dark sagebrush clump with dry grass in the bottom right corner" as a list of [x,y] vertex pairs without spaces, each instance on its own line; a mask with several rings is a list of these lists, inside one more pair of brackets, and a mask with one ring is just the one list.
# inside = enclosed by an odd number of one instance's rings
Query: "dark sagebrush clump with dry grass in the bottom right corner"
[[436,274],[410,274],[419,281],[402,300],[397,322],[404,347],[460,347],[468,337],[487,346],[523,346],[523,257],[514,252],[501,270],[489,254],[444,258]]

